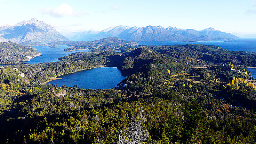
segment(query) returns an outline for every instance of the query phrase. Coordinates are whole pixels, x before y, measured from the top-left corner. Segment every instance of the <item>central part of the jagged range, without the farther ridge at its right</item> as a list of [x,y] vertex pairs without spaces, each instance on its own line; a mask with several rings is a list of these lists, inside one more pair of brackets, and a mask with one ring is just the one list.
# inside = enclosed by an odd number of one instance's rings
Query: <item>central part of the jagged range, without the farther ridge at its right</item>
[[[81,33],[76,34],[71,39],[80,40],[96,40],[107,37],[117,37],[128,41],[186,41],[187,39],[181,35],[173,34],[161,26],[147,27],[126,27],[116,26],[110,27],[98,33],[90,34],[83,32],[83,37],[79,37]],[[83,39],[84,38],[84,39]]]

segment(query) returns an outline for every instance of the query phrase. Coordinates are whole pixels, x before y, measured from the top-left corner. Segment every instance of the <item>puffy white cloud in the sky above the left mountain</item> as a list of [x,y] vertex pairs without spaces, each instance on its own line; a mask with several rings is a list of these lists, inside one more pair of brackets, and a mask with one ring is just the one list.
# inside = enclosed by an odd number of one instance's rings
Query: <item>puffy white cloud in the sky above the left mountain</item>
[[64,17],[64,16],[81,17],[83,15],[88,14],[83,11],[76,11],[73,9],[73,7],[71,7],[66,3],[62,3],[60,6],[56,7],[55,9],[41,8],[40,11],[43,15],[50,15],[52,17]]

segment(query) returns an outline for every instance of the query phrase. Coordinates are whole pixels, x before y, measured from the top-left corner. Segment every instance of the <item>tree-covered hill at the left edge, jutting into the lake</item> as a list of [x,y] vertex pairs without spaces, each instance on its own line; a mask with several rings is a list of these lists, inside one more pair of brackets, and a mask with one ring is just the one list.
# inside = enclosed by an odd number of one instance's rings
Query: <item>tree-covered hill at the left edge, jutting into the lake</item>
[[35,48],[12,42],[0,43],[0,51],[0,64],[15,64],[42,55]]

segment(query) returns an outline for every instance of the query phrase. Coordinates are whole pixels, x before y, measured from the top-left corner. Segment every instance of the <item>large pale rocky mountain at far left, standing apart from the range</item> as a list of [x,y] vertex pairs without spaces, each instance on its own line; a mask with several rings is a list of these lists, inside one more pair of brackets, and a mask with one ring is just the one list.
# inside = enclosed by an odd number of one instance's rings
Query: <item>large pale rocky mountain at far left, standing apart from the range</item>
[[[3,39],[4,38],[4,39]],[[50,43],[60,40],[68,40],[51,25],[32,18],[15,25],[0,26],[0,41],[8,40],[16,43],[32,41],[36,43]]]

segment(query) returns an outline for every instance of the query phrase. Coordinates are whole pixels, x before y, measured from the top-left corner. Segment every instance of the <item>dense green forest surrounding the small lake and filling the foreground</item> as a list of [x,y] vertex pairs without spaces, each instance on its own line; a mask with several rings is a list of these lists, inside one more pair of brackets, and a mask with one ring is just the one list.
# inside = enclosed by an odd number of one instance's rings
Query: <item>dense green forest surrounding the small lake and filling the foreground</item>
[[[211,45],[76,52],[58,62],[0,68],[2,143],[256,143],[256,53]],[[116,88],[43,85],[50,77],[115,66]]]

